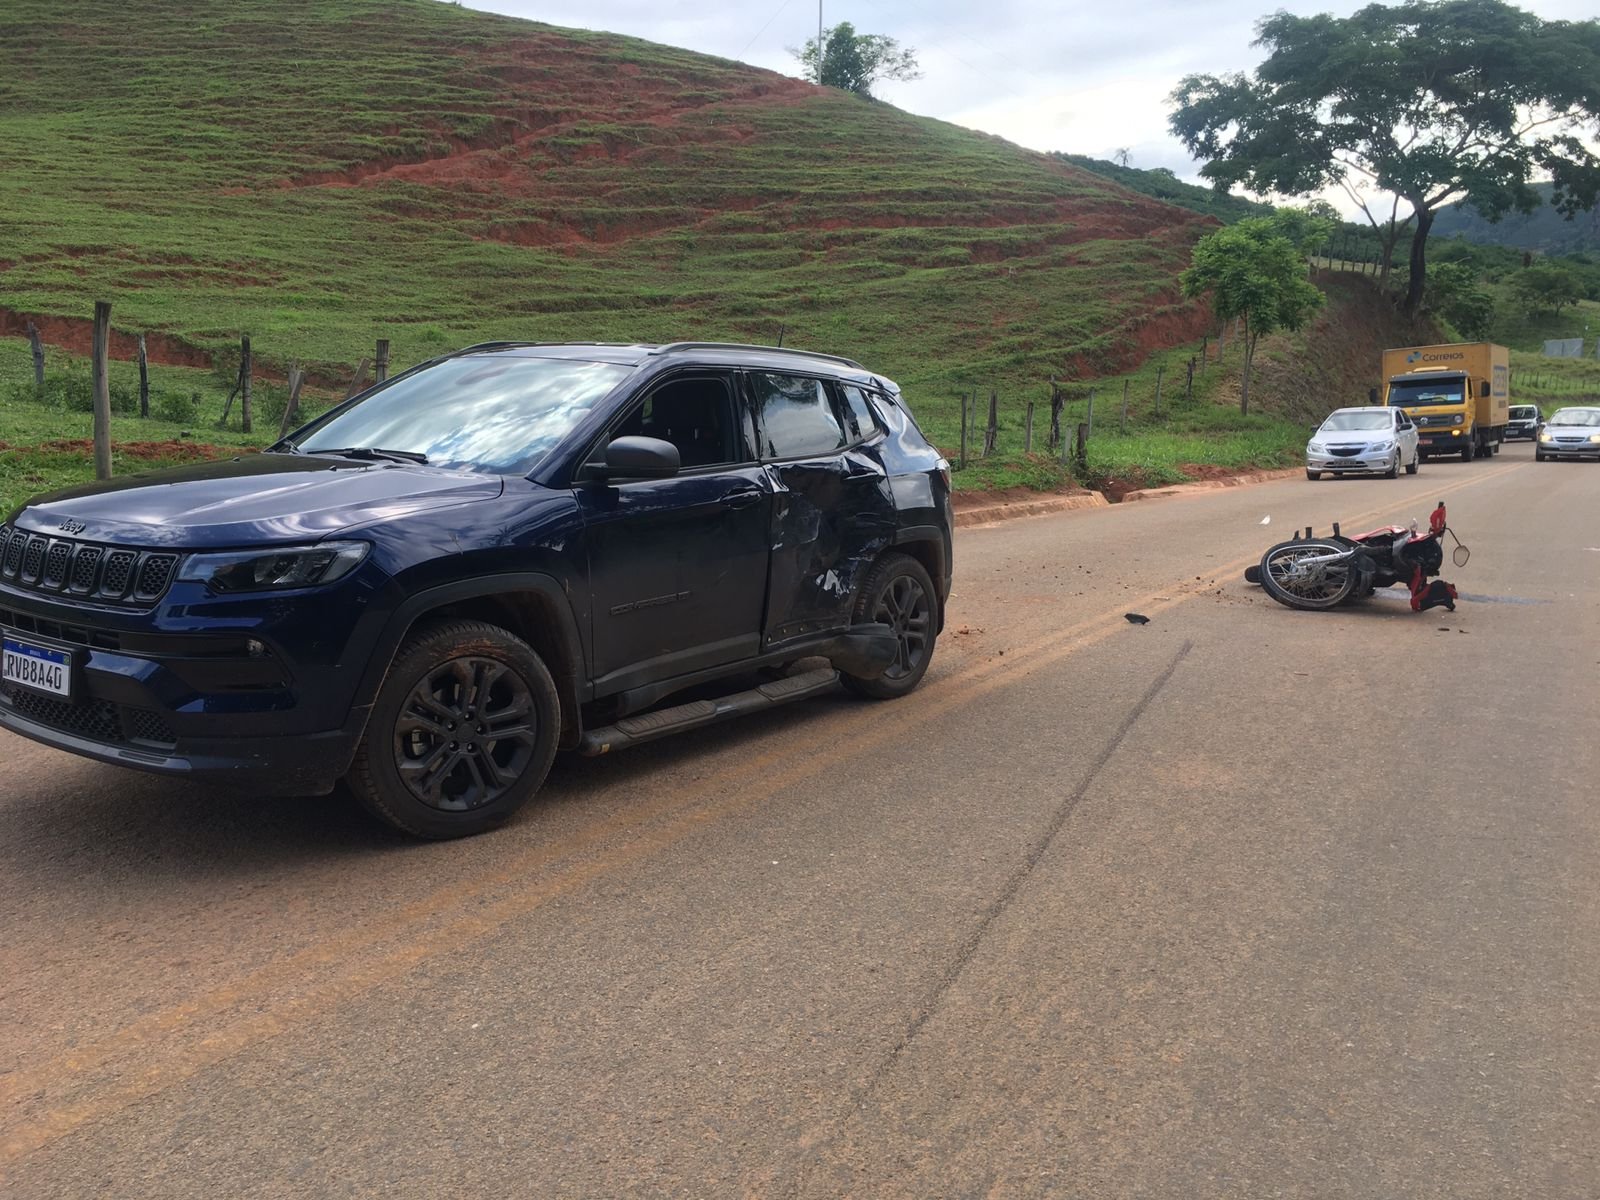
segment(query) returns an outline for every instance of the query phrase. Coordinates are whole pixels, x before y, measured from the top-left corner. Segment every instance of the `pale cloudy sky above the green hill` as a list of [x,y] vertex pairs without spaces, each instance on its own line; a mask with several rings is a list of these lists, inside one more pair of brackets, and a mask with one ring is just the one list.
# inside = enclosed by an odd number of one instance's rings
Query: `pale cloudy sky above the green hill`
[[[816,37],[816,0],[466,0],[552,26],[603,29],[741,59],[787,75]],[[1197,165],[1166,133],[1166,96],[1189,72],[1248,70],[1254,22],[1277,10],[1354,13],[1350,0],[822,0],[822,19],[917,51],[923,77],[875,93],[909,112],[995,133],[1035,150],[1166,166]],[[1546,19],[1584,21],[1595,0],[1523,0]],[[1338,200],[1338,197],[1330,197]],[[1344,205],[1341,205],[1344,206]]]

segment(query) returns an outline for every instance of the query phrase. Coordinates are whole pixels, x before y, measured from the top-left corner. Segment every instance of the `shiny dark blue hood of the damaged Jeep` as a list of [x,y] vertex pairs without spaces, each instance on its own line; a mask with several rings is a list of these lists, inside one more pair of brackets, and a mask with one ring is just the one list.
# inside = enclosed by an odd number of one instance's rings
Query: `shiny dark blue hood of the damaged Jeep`
[[374,522],[493,499],[499,475],[314,454],[246,454],[37,496],[18,528],[128,546],[315,541]]

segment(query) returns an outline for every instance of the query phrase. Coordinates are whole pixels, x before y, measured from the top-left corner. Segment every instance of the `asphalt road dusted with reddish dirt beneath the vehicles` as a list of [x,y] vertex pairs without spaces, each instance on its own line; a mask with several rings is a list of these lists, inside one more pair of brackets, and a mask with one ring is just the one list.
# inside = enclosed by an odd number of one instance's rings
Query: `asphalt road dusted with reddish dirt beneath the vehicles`
[[[1242,581],[1437,499],[1454,614]],[[451,845],[0,733],[0,1194],[1595,1197],[1597,512],[1517,446],[963,530],[915,696]]]

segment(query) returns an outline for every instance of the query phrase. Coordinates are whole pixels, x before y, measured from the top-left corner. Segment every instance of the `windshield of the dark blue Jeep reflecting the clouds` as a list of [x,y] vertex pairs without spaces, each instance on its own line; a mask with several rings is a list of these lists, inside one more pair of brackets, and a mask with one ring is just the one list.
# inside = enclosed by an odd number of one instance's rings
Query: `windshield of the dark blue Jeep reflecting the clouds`
[[522,475],[632,370],[573,358],[446,358],[312,424],[296,445],[426,454],[432,466]]

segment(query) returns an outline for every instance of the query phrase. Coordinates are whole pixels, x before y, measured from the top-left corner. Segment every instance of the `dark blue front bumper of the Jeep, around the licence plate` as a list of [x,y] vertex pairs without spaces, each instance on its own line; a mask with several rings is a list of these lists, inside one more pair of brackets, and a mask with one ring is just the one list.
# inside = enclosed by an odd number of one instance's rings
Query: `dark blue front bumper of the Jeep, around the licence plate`
[[0,728],[158,774],[326,792],[366,726],[384,582],[248,597],[179,582],[144,608],[0,582],[0,627],[72,662],[70,699],[0,683]]

